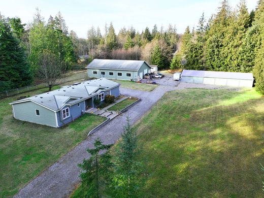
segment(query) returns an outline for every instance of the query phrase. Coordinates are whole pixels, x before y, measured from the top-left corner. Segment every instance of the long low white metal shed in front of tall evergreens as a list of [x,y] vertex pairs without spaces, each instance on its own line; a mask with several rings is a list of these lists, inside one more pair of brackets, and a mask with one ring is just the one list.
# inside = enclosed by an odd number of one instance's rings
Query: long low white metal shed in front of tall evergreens
[[181,81],[209,85],[252,87],[254,78],[252,73],[183,70]]

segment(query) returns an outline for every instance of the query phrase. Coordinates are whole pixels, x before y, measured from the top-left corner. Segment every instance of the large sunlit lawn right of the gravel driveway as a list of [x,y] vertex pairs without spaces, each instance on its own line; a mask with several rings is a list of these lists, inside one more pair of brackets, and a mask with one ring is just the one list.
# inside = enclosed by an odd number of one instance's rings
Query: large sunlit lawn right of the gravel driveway
[[135,127],[146,197],[264,196],[264,97],[255,90],[172,91]]

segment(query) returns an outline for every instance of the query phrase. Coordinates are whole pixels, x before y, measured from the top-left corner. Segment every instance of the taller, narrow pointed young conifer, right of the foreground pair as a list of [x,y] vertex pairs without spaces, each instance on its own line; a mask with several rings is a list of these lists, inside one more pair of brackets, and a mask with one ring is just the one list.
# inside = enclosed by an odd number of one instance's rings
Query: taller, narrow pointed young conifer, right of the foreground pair
[[129,117],[122,133],[122,140],[118,143],[115,158],[116,167],[113,179],[115,197],[139,197],[143,182],[140,179],[142,164],[137,161],[138,139],[136,131],[131,128]]

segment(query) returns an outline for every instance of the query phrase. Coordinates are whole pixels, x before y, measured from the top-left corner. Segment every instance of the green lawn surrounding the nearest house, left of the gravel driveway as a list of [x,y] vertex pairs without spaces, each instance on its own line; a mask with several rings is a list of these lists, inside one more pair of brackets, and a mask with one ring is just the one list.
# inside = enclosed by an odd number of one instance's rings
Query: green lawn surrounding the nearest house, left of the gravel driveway
[[[47,90],[21,95],[32,96]],[[0,197],[17,193],[105,121],[104,117],[88,114],[61,128],[19,121],[12,117],[12,106],[8,103],[21,95],[0,100]]]

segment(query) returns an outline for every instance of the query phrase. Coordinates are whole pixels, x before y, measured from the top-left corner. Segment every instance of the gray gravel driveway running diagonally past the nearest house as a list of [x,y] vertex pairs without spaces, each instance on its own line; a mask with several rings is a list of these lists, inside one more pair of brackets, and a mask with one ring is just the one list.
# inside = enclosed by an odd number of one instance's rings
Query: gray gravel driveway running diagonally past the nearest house
[[[131,124],[135,124],[167,91],[175,90],[175,86],[158,86],[151,92],[120,88],[121,94],[140,97],[141,101],[131,107],[129,113]],[[107,125],[89,136],[68,154],[61,157],[37,178],[29,182],[14,197],[64,197],[69,195],[80,182],[80,168],[84,158],[90,157],[86,151],[93,147],[95,139],[100,138],[105,144],[115,143],[121,136],[125,124],[126,113],[120,114]]]

